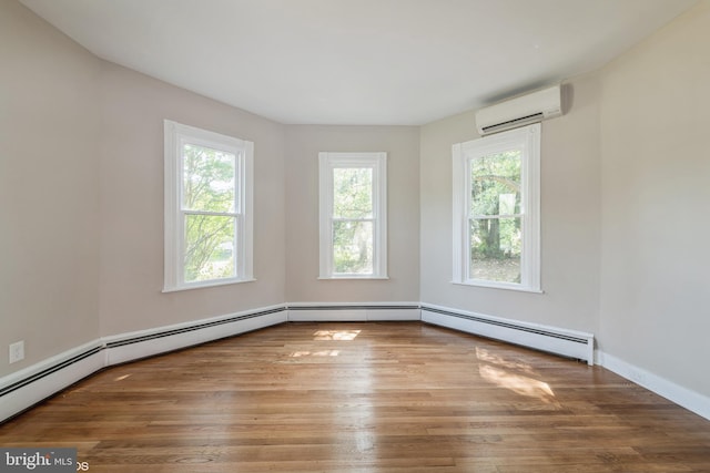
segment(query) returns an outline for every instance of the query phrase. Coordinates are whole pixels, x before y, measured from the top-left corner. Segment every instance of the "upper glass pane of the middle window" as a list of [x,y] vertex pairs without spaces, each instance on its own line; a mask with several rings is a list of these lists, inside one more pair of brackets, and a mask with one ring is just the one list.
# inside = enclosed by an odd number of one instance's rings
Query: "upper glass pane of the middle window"
[[373,217],[373,169],[371,167],[333,169],[333,217]]

